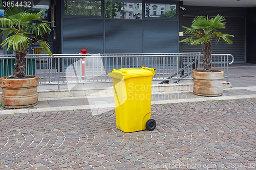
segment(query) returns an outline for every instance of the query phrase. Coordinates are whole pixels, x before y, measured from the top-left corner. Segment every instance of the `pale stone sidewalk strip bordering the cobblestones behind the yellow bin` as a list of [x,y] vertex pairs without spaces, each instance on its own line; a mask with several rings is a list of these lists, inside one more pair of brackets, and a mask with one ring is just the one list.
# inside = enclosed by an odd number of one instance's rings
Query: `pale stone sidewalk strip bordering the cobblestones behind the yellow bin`
[[[206,97],[195,95],[193,91],[177,91],[177,92],[155,92],[152,94],[151,104],[168,104],[168,103],[187,103],[201,101],[218,101],[232,99],[248,99],[256,98],[256,86],[234,87],[224,89],[223,95],[218,97]],[[34,107],[25,109],[0,109],[0,114],[14,114],[27,112],[44,112],[44,111],[65,111],[76,109],[97,109],[97,108],[113,108],[115,107],[114,95],[96,95],[84,97],[68,97],[68,98],[48,98],[39,99]]]

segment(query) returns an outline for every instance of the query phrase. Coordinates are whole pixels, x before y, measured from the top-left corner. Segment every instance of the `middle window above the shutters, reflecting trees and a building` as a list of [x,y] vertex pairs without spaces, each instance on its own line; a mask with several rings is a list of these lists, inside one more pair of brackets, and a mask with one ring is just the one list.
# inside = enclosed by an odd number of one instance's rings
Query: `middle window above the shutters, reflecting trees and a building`
[[[132,0],[131,0],[132,1]],[[141,1],[120,2],[118,0],[105,0],[105,18],[119,19],[141,19],[142,3]],[[136,2],[136,3],[135,3]]]

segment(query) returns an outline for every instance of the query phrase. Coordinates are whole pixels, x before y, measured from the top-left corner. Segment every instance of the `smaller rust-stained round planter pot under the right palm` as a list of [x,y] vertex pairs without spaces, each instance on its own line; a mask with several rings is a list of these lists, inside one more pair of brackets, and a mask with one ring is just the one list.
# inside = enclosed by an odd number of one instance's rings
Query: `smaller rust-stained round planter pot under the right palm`
[[221,70],[212,70],[212,72],[203,71],[202,69],[192,71],[194,94],[203,96],[222,95],[224,72]]

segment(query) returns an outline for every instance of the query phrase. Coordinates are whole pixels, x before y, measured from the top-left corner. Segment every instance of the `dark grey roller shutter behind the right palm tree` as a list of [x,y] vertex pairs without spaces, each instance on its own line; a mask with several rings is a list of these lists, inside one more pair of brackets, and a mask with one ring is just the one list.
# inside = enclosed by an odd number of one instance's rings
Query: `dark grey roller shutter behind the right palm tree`
[[[199,14],[200,15],[200,14]],[[190,27],[192,20],[195,16],[184,16],[183,25],[185,27]],[[214,16],[211,16],[214,17]],[[232,54],[234,56],[234,63],[245,63],[245,26],[246,21],[245,17],[225,17],[226,28],[221,29],[220,31],[224,34],[231,34],[234,37],[230,39],[233,41],[233,44],[225,44],[224,41],[219,41],[218,44],[215,43],[215,40],[212,41],[212,54]],[[188,37],[185,35],[183,38]],[[202,45],[193,46],[187,43],[183,43],[183,52],[203,52]]]

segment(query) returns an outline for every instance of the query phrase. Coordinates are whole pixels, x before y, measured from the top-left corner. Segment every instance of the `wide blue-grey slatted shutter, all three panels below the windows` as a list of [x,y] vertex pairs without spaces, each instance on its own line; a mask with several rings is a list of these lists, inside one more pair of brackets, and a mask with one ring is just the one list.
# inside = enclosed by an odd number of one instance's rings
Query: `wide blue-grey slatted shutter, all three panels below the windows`
[[177,53],[178,21],[63,17],[62,53]]

